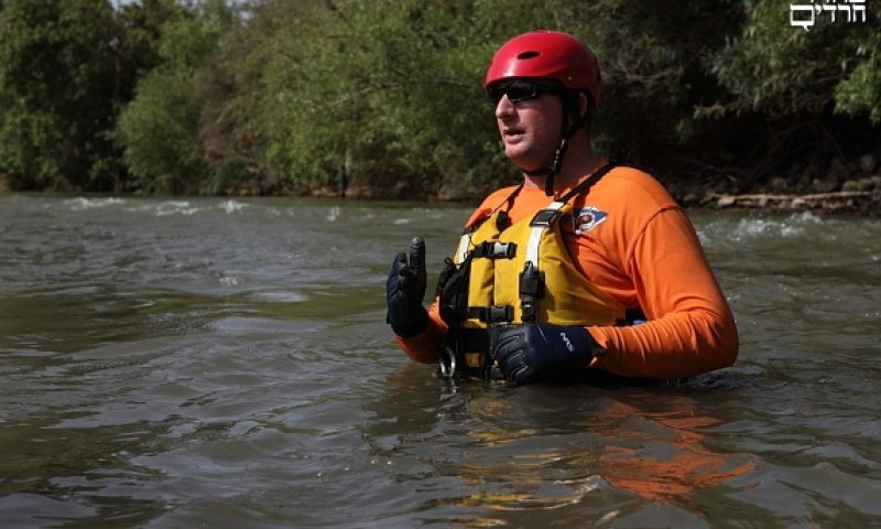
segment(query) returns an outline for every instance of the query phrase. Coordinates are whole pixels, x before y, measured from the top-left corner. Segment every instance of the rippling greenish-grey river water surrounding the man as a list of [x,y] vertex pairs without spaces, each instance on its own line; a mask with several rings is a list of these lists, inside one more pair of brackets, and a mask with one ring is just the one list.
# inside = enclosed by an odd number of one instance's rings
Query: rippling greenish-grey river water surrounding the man
[[692,212],[732,368],[511,388],[384,323],[468,213],[0,196],[0,527],[881,527],[881,222]]

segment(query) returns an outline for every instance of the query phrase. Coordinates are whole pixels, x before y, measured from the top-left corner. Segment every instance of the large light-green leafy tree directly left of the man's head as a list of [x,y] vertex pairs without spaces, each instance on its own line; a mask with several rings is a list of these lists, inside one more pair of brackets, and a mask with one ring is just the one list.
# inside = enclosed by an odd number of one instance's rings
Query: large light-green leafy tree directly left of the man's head
[[487,25],[496,6],[472,0],[262,2],[239,37],[249,51],[225,66],[249,80],[227,108],[291,192],[335,188],[344,171],[359,194],[482,192],[510,174],[486,62],[540,11],[507,3]]

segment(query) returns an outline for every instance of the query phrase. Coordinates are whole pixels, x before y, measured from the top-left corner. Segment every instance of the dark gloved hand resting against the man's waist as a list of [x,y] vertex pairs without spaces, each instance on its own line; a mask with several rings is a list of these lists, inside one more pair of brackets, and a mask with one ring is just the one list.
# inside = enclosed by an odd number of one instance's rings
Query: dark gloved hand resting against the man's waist
[[492,358],[516,384],[574,379],[590,358],[606,353],[585,327],[529,323],[499,327]]

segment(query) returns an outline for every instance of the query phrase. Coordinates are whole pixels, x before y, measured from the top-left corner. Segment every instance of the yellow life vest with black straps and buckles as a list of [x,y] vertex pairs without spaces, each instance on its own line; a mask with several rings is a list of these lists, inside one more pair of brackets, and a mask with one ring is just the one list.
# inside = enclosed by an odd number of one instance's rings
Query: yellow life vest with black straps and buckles
[[491,335],[500,325],[614,325],[624,320],[624,306],[575,267],[559,226],[572,213],[569,201],[613,166],[607,164],[532,217],[509,226],[500,206],[461,236],[437,287],[440,316],[449,327],[443,376],[490,378]]

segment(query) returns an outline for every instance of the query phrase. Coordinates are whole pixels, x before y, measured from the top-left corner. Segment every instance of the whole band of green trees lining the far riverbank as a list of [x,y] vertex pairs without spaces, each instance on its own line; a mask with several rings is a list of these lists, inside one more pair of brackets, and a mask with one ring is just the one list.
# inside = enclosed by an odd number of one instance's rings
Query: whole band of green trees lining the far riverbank
[[603,154],[742,187],[877,149],[881,8],[866,6],[866,22],[818,17],[804,31],[772,0],[6,0],[0,177],[478,195],[516,177],[486,66],[543,28],[600,60]]

